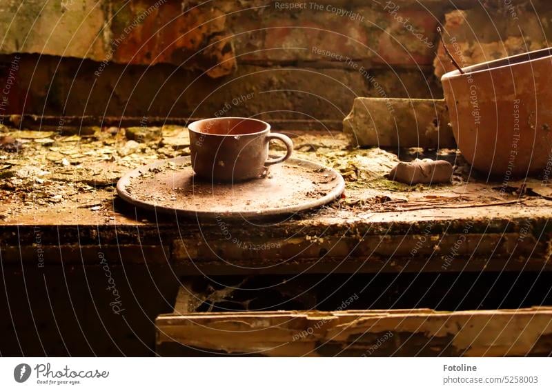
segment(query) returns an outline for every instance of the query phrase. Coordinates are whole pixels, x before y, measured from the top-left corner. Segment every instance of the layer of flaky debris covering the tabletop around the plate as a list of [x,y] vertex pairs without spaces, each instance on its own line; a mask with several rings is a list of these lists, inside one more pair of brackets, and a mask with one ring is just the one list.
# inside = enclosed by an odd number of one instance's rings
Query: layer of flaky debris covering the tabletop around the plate
[[[79,129],[52,134],[49,130],[29,133],[0,126],[0,138],[10,145],[17,143],[17,148],[12,150],[0,148],[0,218],[32,220],[37,215],[65,212],[66,217],[69,214],[77,219],[78,211],[81,219],[99,218],[109,222],[114,213],[115,183],[123,174],[156,160],[190,154],[188,130],[183,126],[163,126],[161,140],[148,142],[129,140],[124,128],[90,127],[87,132],[92,130],[93,134],[83,134]],[[532,193],[520,197],[501,188],[495,189],[500,183],[486,183],[486,178],[477,177],[455,148],[393,151],[351,148],[343,132],[287,134],[297,146],[293,157],[333,168],[346,181],[346,198],[317,210],[321,216],[335,217],[341,213],[348,216],[351,211],[362,214],[420,208],[469,208],[471,205],[509,204],[520,202],[520,199],[542,198],[532,197]],[[282,153],[280,148],[278,143],[270,146],[275,154]],[[425,184],[409,180],[401,183],[388,177],[388,172],[400,161],[426,157],[453,162],[452,182],[451,174],[446,175],[447,183],[438,185],[435,176],[431,183]],[[539,194],[550,191],[549,186],[539,185],[541,182],[540,179],[526,179],[526,186]],[[88,206],[79,208],[82,205]],[[102,208],[92,210],[97,205]],[[93,214],[82,217],[86,212]]]

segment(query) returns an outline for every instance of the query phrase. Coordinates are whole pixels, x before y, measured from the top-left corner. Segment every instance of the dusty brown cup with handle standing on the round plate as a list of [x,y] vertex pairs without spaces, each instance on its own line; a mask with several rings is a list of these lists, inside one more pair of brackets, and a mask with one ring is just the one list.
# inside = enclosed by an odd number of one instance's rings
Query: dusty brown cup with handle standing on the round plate
[[[259,119],[221,117],[202,119],[188,126],[192,168],[198,177],[213,181],[244,181],[260,177],[272,164],[289,159],[293,142],[284,134],[270,133]],[[286,146],[282,157],[268,159],[268,141]]]

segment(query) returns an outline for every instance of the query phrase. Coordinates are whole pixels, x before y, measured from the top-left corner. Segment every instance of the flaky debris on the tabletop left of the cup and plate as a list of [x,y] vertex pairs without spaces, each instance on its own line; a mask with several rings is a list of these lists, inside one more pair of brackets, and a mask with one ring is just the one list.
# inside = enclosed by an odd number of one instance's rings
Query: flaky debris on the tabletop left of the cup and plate
[[[136,139],[128,139],[130,134]],[[158,136],[174,143],[160,148],[159,140],[149,141]],[[110,203],[115,183],[128,170],[189,155],[189,148],[184,148],[187,138],[182,126],[138,127],[130,132],[88,127],[61,134],[0,126],[0,214],[9,218],[51,205],[70,208],[90,198]]]

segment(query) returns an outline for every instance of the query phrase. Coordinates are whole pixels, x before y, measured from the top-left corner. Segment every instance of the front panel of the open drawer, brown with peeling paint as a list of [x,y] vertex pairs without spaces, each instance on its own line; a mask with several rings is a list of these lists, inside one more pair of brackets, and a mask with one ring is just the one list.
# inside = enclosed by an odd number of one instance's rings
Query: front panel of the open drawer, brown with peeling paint
[[279,357],[546,356],[551,319],[552,308],[545,307],[161,314],[156,350]]

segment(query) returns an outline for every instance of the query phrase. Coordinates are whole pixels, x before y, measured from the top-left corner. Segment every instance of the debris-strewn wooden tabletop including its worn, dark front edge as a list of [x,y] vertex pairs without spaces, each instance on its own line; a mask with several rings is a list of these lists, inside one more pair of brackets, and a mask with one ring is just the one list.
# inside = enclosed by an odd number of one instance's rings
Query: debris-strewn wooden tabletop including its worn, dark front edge
[[[101,247],[121,262],[168,262],[190,274],[549,268],[552,187],[538,177],[487,181],[456,150],[351,150],[341,132],[286,132],[296,157],[343,174],[344,197],[270,221],[199,221],[139,210],[115,191],[124,172],[189,154],[186,128],[1,130],[4,261],[41,245],[78,248],[68,261]],[[453,183],[389,181],[397,154],[451,161]]]

